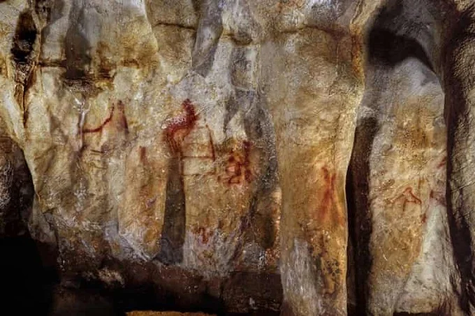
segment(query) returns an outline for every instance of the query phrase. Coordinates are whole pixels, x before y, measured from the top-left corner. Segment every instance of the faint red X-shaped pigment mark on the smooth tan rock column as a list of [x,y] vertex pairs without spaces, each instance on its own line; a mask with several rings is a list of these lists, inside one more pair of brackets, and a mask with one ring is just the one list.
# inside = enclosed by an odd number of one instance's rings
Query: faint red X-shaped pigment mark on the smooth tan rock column
[[337,223],[344,225],[344,217],[342,216],[343,210],[339,207],[337,201],[337,190],[335,186],[337,175],[334,172],[330,174],[326,167],[322,167],[321,171],[323,172],[323,180],[325,181],[325,190],[321,200],[319,220],[326,222],[330,214],[332,214],[330,211],[335,208],[337,212],[334,216],[336,216]]

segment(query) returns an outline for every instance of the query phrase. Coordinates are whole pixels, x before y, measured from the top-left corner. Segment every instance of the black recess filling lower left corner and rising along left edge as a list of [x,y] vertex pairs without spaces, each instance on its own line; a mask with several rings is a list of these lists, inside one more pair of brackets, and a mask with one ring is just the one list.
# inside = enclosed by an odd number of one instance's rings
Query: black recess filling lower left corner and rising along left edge
[[52,287],[58,282],[56,254],[29,234],[34,187],[22,151],[6,139],[1,140],[0,149],[13,170],[8,174],[10,180],[1,179],[5,181],[2,186],[11,181],[10,202],[0,210],[0,224],[5,225],[0,230],[1,306],[4,313],[15,310],[18,315],[48,315]]

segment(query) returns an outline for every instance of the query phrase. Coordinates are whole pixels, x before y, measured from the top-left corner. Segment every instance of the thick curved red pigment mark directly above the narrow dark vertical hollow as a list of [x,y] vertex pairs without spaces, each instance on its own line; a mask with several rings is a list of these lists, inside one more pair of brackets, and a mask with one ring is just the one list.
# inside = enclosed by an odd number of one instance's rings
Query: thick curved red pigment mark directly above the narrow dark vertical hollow
[[184,137],[187,137],[193,127],[196,125],[198,115],[195,107],[191,104],[189,99],[182,103],[184,114],[177,116],[168,121],[168,126],[165,128],[165,140],[173,153],[182,153],[182,142]]

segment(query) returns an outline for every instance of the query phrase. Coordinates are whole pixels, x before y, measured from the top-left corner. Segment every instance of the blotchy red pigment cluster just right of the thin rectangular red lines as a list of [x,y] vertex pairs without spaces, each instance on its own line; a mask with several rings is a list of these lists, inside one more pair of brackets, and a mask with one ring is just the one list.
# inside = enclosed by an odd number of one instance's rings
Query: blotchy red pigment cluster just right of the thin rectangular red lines
[[242,142],[242,153],[231,150],[225,169],[228,174],[228,184],[241,184],[244,180],[248,183],[252,181],[250,156],[251,142],[247,140]]

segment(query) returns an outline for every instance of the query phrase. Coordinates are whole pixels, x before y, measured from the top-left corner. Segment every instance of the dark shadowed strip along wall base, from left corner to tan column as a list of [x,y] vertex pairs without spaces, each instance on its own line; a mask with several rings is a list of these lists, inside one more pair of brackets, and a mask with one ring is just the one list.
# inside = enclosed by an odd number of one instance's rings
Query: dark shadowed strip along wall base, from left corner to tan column
[[[74,286],[61,286],[55,271],[42,266],[31,239],[2,239],[0,250],[10,258],[0,264],[4,293],[0,303],[3,310],[14,312],[6,315],[124,316],[133,310],[234,316],[280,313],[282,288],[280,277],[275,274],[233,273],[213,284],[201,278],[184,277],[180,269],[170,269],[163,271],[160,280],[121,288],[85,280]],[[153,271],[154,268],[148,272]],[[157,283],[160,281],[163,283]],[[250,298],[256,299],[255,305],[249,305]],[[238,313],[239,310],[246,313]]]

